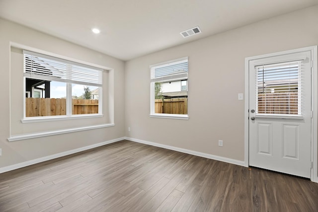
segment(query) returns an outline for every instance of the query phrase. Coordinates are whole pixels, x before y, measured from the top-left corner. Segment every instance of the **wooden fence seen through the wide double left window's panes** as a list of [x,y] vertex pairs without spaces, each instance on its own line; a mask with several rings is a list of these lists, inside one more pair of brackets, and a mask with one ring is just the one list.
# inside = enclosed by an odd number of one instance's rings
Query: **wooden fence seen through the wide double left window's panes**
[[[98,113],[97,99],[72,99],[72,114]],[[66,99],[25,98],[25,116],[66,115]]]

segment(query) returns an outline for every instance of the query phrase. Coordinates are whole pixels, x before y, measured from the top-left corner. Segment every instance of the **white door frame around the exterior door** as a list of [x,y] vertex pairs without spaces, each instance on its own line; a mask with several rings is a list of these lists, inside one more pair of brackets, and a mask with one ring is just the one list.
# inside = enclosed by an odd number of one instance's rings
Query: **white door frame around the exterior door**
[[311,133],[311,181],[318,183],[318,54],[317,46],[245,58],[245,103],[244,103],[244,165],[249,166],[249,62],[287,54],[311,51],[312,62],[312,133]]

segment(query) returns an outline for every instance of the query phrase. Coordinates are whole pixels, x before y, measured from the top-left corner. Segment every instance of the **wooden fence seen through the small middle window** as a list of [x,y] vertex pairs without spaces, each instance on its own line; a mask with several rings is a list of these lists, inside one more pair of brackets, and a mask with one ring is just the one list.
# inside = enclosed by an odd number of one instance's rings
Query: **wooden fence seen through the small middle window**
[[188,114],[188,98],[155,99],[155,113]]

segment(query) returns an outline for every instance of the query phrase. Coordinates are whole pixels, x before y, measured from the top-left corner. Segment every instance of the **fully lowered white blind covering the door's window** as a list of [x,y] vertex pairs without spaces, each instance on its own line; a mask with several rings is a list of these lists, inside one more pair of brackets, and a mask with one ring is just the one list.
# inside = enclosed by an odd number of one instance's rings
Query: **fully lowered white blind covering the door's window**
[[302,61],[255,67],[256,114],[302,115]]

